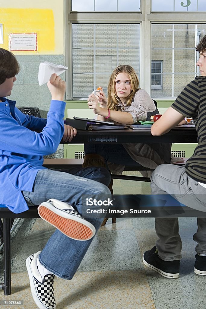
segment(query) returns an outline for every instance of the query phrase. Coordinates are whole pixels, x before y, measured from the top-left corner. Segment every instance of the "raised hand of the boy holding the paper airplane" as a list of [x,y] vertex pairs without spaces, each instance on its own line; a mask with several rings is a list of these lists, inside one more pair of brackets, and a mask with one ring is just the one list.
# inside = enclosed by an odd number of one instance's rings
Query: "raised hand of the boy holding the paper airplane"
[[56,73],[53,73],[47,83],[51,92],[52,100],[63,101],[66,90],[66,83]]

